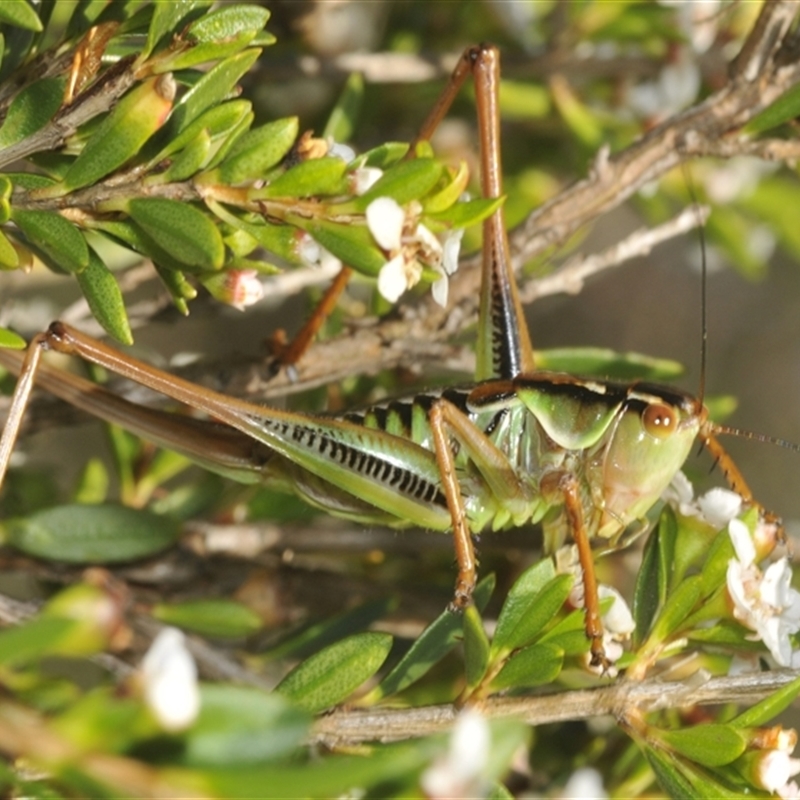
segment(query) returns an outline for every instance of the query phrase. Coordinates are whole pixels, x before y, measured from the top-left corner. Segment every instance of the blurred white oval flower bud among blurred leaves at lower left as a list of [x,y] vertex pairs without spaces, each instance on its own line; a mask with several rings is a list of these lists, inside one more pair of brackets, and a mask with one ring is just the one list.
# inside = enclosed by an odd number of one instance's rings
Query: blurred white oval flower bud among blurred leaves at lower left
[[197,666],[177,628],[164,628],[142,660],[144,699],[167,731],[188,728],[200,711]]

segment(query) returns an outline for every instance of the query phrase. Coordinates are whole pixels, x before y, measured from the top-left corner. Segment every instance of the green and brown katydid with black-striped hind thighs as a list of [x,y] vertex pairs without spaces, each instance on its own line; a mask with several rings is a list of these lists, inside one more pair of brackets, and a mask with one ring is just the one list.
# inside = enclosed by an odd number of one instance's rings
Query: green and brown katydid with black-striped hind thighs
[[[497,51],[468,49],[423,126],[427,138],[472,74],[480,119],[482,189],[500,197]],[[77,355],[211,416],[191,419],[137,406],[40,364],[45,350]],[[56,322],[24,361],[0,439],[0,481],[34,383],[102,419],[242,482],[275,482],[315,506],[368,523],[451,531],[458,574],[454,610],[476,583],[472,536],[540,522],[552,551],[572,540],[583,573],[585,628],[594,665],[606,663],[592,545],[612,547],[644,519],[696,438],[731,487],[753,503],[719,445],[723,429],[702,400],[649,383],[581,380],[536,370],[510,267],[502,207],[484,222],[477,372],[468,386],[362,411],[312,416],[231,399],[137,361]]]

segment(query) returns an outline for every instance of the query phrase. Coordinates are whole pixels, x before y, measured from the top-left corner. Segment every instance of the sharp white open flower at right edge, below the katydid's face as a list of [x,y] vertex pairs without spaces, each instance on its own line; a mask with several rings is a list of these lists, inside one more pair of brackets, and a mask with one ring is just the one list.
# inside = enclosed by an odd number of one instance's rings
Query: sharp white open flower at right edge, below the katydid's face
[[790,636],[800,631],[800,592],[791,587],[792,570],[780,558],[765,572],[756,565],[756,548],[747,526],[731,520],[728,533],[736,558],[728,562],[728,594],[733,615],[764,642],[782,667],[792,666]]

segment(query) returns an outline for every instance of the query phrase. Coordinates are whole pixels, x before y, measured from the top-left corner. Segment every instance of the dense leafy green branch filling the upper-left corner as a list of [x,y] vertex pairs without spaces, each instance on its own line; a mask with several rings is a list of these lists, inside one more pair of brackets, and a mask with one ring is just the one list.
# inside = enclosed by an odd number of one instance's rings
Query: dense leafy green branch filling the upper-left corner
[[[0,269],[33,257],[76,277],[92,312],[132,341],[103,240],[150,258],[186,313],[197,285],[233,302],[231,273],[304,263],[303,235],[375,275],[386,258],[366,228],[376,197],[417,201],[434,231],[491,211],[459,203],[468,172],[421,147],[385,145],[347,163],[329,141],[299,137],[289,117],[254,126],[237,83],[274,41],[254,5],[210,10],[180,3],[4,4],[0,97]],[[55,42],[53,39],[55,38]],[[352,109],[360,84],[348,85]],[[352,127],[345,114],[328,138]],[[361,196],[363,167],[383,177]],[[253,258],[266,250],[269,259]],[[428,277],[437,277],[429,275]],[[10,332],[4,334],[13,344]],[[19,346],[20,342],[16,342]]]

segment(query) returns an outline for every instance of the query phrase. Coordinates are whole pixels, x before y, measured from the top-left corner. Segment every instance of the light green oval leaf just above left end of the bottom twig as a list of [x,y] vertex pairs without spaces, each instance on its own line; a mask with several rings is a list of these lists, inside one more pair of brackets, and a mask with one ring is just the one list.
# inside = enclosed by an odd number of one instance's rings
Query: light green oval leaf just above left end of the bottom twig
[[346,700],[381,667],[392,647],[386,633],[360,633],[298,664],[276,692],[311,713]]

